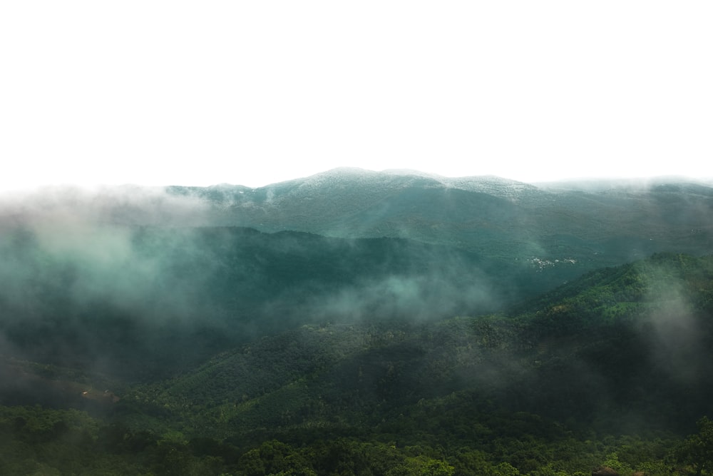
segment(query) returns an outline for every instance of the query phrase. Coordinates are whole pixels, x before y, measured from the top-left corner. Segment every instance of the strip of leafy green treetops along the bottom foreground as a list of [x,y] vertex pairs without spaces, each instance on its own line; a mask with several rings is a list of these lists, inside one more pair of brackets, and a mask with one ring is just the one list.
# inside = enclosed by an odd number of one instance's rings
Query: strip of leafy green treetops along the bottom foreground
[[[429,410],[448,412],[448,403]],[[6,475],[588,475],[598,465],[620,475],[711,474],[713,424],[699,420],[686,439],[565,430],[537,415],[498,412],[447,440],[399,443],[394,435],[327,437],[307,444],[266,439],[236,445],[168,430],[129,430],[78,410],[0,406],[0,472]],[[414,422],[414,425],[417,423]],[[493,425],[495,424],[495,425]],[[441,425],[453,425],[448,420]],[[486,427],[486,425],[493,425]],[[461,432],[482,445],[458,445]],[[389,439],[392,437],[394,439]]]

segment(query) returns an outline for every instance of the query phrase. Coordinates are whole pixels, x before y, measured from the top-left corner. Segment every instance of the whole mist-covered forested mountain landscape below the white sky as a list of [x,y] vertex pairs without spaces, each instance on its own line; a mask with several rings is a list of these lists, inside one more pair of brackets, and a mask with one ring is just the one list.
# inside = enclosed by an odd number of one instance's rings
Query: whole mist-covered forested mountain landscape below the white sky
[[0,473],[693,471],[712,238],[683,178],[4,197]]

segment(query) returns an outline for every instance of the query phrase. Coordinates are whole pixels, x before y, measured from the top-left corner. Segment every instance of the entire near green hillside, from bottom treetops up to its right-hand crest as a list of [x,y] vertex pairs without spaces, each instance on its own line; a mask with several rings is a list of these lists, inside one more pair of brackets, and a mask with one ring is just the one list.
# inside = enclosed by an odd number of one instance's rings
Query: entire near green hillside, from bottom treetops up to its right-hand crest
[[99,390],[98,375],[6,358],[4,371],[36,388],[81,396],[56,410],[2,407],[0,464],[7,474],[695,472],[710,453],[689,449],[713,448],[701,420],[712,413],[712,318],[713,256],[664,253],[503,313],[315,320],[152,383]]

